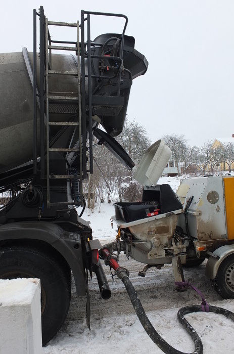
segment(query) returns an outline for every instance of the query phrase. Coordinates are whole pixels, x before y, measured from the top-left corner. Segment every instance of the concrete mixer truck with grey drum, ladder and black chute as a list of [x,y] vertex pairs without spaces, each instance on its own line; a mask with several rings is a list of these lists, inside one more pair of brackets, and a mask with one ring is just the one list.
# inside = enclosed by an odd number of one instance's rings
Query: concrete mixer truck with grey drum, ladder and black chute
[[[91,39],[92,16],[122,18],[123,30]],[[101,244],[81,218],[82,183],[93,170],[93,137],[134,166],[114,137],[124,126],[132,80],[148,62],[125,35],[124,15],[81,11],[80,23],[53,22],[40,7],[33,19],[33,52],[0,54],[0,193],[10,194],[0,207],[0,278],[40,278],[45,344],[66,318],[71,271],[78,296],[88,295],[92,272],[102,297],[111,295]],[[54,39],[55,26],[73,28],[76,40]]]

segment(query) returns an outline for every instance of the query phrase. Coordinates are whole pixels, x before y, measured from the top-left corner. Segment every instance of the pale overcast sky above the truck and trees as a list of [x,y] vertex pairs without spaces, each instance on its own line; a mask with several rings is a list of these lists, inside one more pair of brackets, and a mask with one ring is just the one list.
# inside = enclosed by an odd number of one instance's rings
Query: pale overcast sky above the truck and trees
[[[50,21],[76,22],[80,10],[127,15],[126,34],[135,37],[135,49],[149,62],[146,74],[133,81],[128,116],[146,127],[152,142],[183,134],[189,145],[203,145],[234,133],[233,0],[11,0],[1,5],[2,53],[32,50],[32,10],[40,5]],[[92,17],[92,39],[121,32],[122,24]],[[52,35],[61,39],[64,34],[57,31],[54,27]]]

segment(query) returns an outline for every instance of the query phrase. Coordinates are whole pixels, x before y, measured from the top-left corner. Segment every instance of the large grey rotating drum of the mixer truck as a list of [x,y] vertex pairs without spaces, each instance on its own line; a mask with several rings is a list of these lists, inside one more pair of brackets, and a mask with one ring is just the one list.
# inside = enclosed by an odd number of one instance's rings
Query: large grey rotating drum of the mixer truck
[[[32,65],[32,53],[28,53]],[[53,54],[53,69],[77,71],[72,55]],[[37,60],[37,86],[39,87],[39,60]],[[53,75],[49,78],[53,92],[77,92],[77,78],[68,75]],[[33,98],[32,84],[23,54],[0,54],[0,173],[23,164],[33,158]],[[52,105],[53,108],[53,105]],[[74,108],[70,107],[71,117]],[[76,105],[76,110],[78,109]],[[63,121],[66,109],[54,107],[53,120]],[[37,112],[37,135],[39,142],[39,109]],[[69,118],[66,118],[69,119]],[[37,146],[39,156],[39,144]]]

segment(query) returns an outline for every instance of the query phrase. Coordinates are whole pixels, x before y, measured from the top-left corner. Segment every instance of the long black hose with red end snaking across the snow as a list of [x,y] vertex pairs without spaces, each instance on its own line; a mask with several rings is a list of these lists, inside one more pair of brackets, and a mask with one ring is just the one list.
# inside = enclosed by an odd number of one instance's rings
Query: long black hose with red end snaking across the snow
[[[125,268],[120,267],[120,265],[114,258],[110,258],[110,252],[107,248],[105,248],[105,246],[100,250],[100,255],[102,258],[105,259],[106,264],[110,265],[110,267],[115,270],[117,277],[123,282],[133,305],[134,311],[142,326],[144,327],[146,333],[153,340],[153,342],[166,354],[189,354],[173,348],[155,330],[145,313],[141,300],[139,300],[138,298],[137,292],[135,291],[130,279],[128,278],[129,272]],[[192,337],[195,344],[195,350],[190,354],[203,354],[203,345],[201,338],[194,330],[194,328],[189,324],[189,322],[184,318],[184,316],[193,312],[200,311],[203,311],[201,305],[190,305],[180,308],[177,313],[179,322]],[[227,309],[216,306],[209,306],[209,311],[214,312],[215,314],[224,315],[225,317],[234,321],[234,314],[228,311]]]

